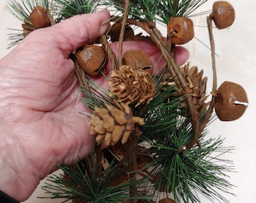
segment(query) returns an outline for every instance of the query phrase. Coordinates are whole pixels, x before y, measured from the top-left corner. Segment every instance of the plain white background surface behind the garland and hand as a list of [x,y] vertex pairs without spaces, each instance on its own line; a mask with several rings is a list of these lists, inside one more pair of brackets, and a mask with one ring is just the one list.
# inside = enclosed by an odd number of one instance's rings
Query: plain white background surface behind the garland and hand
[[[0,2],[0,58],[5,56],[11,50],[7,50],[7,34],[10,31],[7,28],[20,29],[20,21],[16,20],[3,7],[8,1]],[[200,11],[209,11],[212,9],[214,1],[209,0]],[[215,45],[218,68],[218,85],[224,80],[233,81],[242,85],[248,95],[249,107],[245,114],[239,120],[223,123],[216,120],[209,129],[209,135],[212,137],[226,138],[226,146],[234,146],[236,150],[228,155],[228,159],[233,160],[236,173],[229,174],[230,182],[236,185],[232,191],[236,196],[227,195],[231,203],[254,203],[256,202],[256,24],[254,0],[230,0],[236,10],[236,21],[229,29],[214,29]],[[209,46],[208,30],[206,28],[206,16],[197,17],[194,20],[196,26],[196,38]],[[188,44],[190,50],[190,65],[197,65],[203,69],[209,81],[212,79],[212,65],[210,50],[198,40],[191,41]],[[211,89],[209,82],[209,91]],[[40,161],[40,160],[38,160]],[[1,180],[0,180],[1,181]],[[42,180],[44,183],[44,180]],[[19,192],[19,191],[17,191]],[[26,203],[57,202],[56,200],[38,199],[44,193],[40,187]],[[201,198],[202,202],[209,203],[209,200]]]

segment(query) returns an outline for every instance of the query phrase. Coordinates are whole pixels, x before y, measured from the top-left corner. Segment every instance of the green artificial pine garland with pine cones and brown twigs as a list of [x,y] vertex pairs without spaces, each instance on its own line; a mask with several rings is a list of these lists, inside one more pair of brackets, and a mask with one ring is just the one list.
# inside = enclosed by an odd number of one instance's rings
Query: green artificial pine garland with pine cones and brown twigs
[[[191,23],[188,17],[205,2],[23,0],[18,3],[11,0],[7,10],[25,23],[26,32],[12,34],[10,47],[40,29],[31,22],[35,6],[43,8],[49,26],[102,8],[113,14],[108,32],[92,44],[101,44],[111,60],[111,76],[103,75],[108,89],[87,75],[83,65],[89,62],[81,63],[78,51],[71,55],[83,93],[81,101],[91,111],[85,116],[90,117],[90,132],[96,137],[95,150],[75,165],[59,165],[64,174],[48,177],[48,183],[42,187],[48,196],[43,198],[63,198],[62,202],[156,202],[162,193],[173,198],[169,202],[196,203],[200,202],[200,193],[211,201],[229,202],[222,193],[232,194],[229,191],[233,184],[226,180],[226,173],[233,171],[233,162],[221,159],[221,155],[230,153],[233,147],[224,147],[222,138],[209,138],[206,130],[215,118],[212,112],[218,98],[211,24],[214,14],[208,18],[213,69],[210,103],[206,103],[207,78],[203,77],[203,71],[188,64],[180,67],[174,59],[175,45],[184,39],[180,39],[183,31],[176,27],[178,21],[170,21],[178,17],[183,23]],[[156,23],[166,26],[167,36],[160,33]],[[138,27],[146,36],[134,34]],[[187,30],[184,33],[187,35]],[[182,37],[187,37],[185,34]],[[137,52],[136,56],[130,56],[130,64],[123,64],[122,57],[117,59],[111,50],[113,39],[120,42],[120,56],[125,40],[156,44],[166,63],[159,73],[152,74],[153,63],[140,67],[148,59],[136,58],[140,56]],[[190,37],[186,39],[189,40]],[[79,51],[87,48],[81,47]],[[107,61],[102,57],[103,65]],[[107,145],[104,150],[100,147],[102,143]]]

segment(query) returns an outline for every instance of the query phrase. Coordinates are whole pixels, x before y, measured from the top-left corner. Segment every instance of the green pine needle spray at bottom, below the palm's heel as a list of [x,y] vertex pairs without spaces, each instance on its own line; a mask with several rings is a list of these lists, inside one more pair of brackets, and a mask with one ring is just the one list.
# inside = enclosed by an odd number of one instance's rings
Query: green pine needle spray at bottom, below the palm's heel
[[[147,188],[146,178],[127,180],[117,186],[109,186],[112,180],[117,177],[123,168],[114,168],[112,162],[103,172],[99,165],[96,165],[96,154],[89,159],[77,163],[75,167],[60,165],[66,176],[52,175],[48,177],[49,183],[45,183],[42,189],[50,196],[41,198],[62,198],[62,202],[74,200],[76,202],[121,202],[124,199],[145,199],[151,200],[152,196],[131,196],[130,187],[137,186],[141,191]],[[140,193],[140,192],[139,192]]]

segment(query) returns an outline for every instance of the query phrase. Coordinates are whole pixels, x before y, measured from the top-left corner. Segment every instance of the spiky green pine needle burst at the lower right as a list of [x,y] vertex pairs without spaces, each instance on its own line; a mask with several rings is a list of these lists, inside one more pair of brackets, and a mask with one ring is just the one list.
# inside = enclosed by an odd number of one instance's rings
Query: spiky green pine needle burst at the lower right
[[[227,172],[233,171],[233,164],[230,160],[221,159],[221,156],[230,153],[233,147],[223,147],[221,138],[206,140],[202,135],[199,147],[178,153],[185,137],[181,133],[172,135],[175,139],[169,136],[162,138],[162,141],[148,140],[151,145],[148,153],[153,155],[154,160],[150,165],[155,165],[151,174],[160,172],[156,189],[164,185],[166,195],[172,191],[173,198],[178,202],[181,199],[185,203],[200,202],[197,193],[213,202],[229,202],[223,193],[231,194],[229,190],[233,185],[225,178],[228,177]],[[168,139],[172,139],[172,144],[166,144]]]

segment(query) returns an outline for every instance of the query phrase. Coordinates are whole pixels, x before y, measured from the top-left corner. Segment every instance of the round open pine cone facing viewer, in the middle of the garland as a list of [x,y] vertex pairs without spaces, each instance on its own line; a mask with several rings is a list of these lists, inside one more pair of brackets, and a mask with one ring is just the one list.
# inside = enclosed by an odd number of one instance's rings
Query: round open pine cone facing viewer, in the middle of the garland
[[122,65],[119,71],[112,71],[108,86],[111,94],[117,96],[117,102],[136,104],[135,107],[151,101],[155,94],[151,75],[133,66]]

